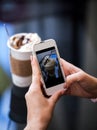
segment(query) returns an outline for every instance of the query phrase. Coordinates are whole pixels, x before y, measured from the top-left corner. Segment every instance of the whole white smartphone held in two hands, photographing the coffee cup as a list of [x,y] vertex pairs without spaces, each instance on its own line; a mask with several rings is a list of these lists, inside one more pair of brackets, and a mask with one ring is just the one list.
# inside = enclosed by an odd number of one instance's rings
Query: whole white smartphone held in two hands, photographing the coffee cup
[[65,75],[60,64],[60,56],[55,40],[48,39],[33,46],[33,54],[38,60],[43,86],[47,95],[64,89]]

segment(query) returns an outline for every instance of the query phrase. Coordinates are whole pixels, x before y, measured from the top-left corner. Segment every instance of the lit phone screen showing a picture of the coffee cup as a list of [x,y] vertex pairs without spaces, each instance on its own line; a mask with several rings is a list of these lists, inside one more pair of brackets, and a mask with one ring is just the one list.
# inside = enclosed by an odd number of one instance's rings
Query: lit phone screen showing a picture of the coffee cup
[[36,52],[46,88],[64,83],[55,47]]

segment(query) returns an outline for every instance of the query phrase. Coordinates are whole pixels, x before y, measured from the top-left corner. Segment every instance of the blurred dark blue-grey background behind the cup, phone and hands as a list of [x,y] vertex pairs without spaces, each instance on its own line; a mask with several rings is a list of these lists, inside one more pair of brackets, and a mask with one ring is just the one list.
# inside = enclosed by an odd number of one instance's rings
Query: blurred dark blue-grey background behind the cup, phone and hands
[[[8,116],[12,87],[9,36],[36,32],[42,40],[53,38],[61,57],[97,77],[96,12],[96,0],[0,0],[0,130],[23,130],[26,125]],[[48,130],[97,130],[96,113],[97,103],[64,96],[56,105]]]

